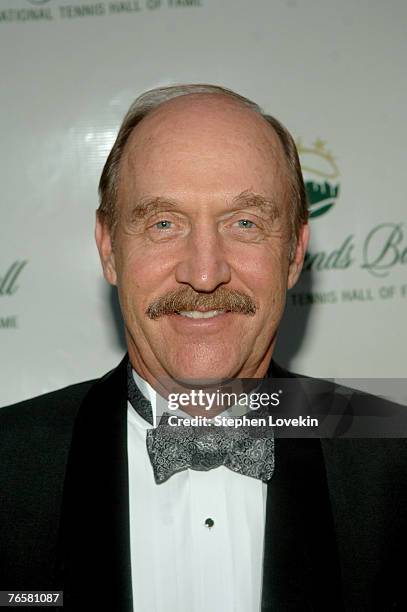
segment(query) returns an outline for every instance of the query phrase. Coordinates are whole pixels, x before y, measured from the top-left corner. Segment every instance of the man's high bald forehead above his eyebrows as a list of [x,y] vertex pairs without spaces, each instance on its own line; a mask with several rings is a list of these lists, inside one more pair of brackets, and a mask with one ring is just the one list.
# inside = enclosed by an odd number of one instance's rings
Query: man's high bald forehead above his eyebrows
[[176,196],[185,188],[275,196],[285,192],[287,174],[280,140],[259,113],[226,96],[191,94],[161,104],[133,130],[119,193]]

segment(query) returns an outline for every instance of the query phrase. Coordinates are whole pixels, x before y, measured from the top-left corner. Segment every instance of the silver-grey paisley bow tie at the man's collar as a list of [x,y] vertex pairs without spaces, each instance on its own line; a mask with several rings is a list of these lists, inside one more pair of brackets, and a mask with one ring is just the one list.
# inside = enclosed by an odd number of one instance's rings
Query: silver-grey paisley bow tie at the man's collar
[[[128,398],[133,408],[153,423],[150,402],[137,387],[128,365]],[[158,427],[147,431],[147,451],[157,484],[188,468],[208,471],[224,465],[233,472],[267,482],[274,471],[274,437],[271,427],[182,426],[168,422],[168,413]],[[266,414],[256,411],[256,419]],[[267,419],[266,419],[267,420]]]

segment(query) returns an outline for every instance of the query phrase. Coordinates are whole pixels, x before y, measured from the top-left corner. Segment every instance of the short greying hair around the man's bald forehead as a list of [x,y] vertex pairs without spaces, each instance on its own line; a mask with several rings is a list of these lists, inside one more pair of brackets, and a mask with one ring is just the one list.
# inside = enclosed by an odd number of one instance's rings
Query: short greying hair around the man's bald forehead
[[188,94],[210,94],[222,95],[250,108],[254,112],[261,115],[267,123],[271,125],[277,134],[280,143],[283,147],[289,175],[290,175],[290,223],[292,245],[290,258],[294,255],[295,244],[299,235],[300,228],[307,222],[308,219],[308,204],[304,181],[301,172],[300,161],[298,158],[297,148],[293,137],[289,131],[277,119],[271,115],[267,115],[255,103],[241,96],[240,94],[220,87],[218,85],[207,84],[188,84],[188,85],[171,85],[168,87],[158,87],[151,89],[139,96],[130,106],[123,122],[120,126],[116,141],[109,153],[109,156],[104,165],[100,182],[99,182],[99,198],[100,205],[98,213],[104,218],[110,227],[112,235],[117,224],[117,192],[120,173],[120,162],[125,149],[125,146],[133,132],[134,128],[144,117],[151,111],[156,109],[163,102],[167,102],[173,98],[186,96]]

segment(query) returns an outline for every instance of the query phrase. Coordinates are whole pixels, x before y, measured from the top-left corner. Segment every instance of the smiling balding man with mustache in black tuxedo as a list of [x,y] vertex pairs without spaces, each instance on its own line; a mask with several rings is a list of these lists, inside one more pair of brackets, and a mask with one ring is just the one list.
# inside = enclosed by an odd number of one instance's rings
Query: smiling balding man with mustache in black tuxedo
[[100,196],[128,358],[2,410],[1,588],[63,588],[72,610],[405,609],[402,442],[276,440],[267,478],[225,464],[157,482],[165,445],[151,464],[173,384],[292,376],[271,361],[309,232],[291,136],[229,90],[153,90]]

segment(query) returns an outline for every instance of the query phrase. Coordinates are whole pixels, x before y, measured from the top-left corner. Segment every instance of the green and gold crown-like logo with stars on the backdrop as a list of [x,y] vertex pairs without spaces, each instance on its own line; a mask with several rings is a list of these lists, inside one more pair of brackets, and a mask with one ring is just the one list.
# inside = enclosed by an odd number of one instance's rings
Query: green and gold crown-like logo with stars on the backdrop
[[300,140],[297,142],[311,219],[327,213],[339,196],[339,183],[333,183],[339,176],[338,166],[325,144],[319,138],[312,147],[304,146]]

